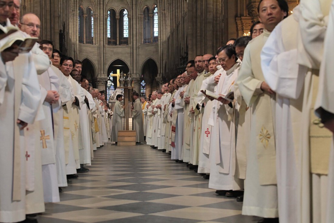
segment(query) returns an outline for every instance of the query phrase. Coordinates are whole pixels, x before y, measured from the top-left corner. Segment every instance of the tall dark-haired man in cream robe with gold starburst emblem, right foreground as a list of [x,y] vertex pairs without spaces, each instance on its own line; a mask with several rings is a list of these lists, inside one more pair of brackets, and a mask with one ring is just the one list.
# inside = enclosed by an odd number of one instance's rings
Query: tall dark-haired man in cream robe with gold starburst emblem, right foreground
[[271,31],[288,15],[288,5],[285,0],[261,0],[258,11],[266,29],[246,47],[236,81],[243,99],[252,109],[242,214],[268,218],[267,222],[278,222],[277,149],[271,109],[275,92],[264,81],[259,65],[262,48]]

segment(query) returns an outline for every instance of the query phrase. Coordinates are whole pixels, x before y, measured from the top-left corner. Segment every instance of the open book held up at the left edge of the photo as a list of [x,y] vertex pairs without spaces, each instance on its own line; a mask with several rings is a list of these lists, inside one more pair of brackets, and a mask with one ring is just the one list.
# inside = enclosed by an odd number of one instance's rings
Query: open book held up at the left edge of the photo
[[28,53],[35,45],[35,43],[38,41],[38,38],[36,37],[15,37],[10,38],[1,48],[0,52],[13,47],[18,48],[19,53]]

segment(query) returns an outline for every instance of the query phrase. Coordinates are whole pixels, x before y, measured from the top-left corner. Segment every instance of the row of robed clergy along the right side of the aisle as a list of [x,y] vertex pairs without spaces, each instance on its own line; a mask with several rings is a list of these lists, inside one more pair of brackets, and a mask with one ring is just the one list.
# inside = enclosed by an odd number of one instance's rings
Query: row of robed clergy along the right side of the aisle
[[258,12],[251,36],[197,55],[142,97],[146,142],[243,201],[243,215],[332,222],[334,1],[289,11],[261,0]]

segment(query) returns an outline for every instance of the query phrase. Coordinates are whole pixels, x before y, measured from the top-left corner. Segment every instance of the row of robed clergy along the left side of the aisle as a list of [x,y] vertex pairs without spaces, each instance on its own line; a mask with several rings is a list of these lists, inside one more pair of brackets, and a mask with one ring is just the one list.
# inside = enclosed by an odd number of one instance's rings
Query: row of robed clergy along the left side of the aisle
[[[36,37],[40,19],[20,18],[20,0],[0,0],[0,47]],[[16,27],[16,28],[15,28]],[[0,60],[0,222],[37,222],[44,203],[59,202],[77,172],[88,172],[94,150],[111,138],[105,95],[81,76],[82,63],[47,40],[29,53],[12,45]],[[84,166],[86,165],[86,167]]]

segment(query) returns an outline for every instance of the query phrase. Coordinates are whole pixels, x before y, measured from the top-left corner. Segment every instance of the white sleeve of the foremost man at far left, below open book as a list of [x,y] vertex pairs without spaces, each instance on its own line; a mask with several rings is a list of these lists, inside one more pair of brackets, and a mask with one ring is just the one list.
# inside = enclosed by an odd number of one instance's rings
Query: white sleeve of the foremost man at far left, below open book
[[37,115],[41,92],[38,84],[36,68],[31,54],[27,54],[28,63],[22,78],[22,97],[18,119],[32,124]]

